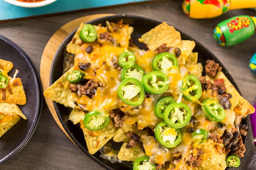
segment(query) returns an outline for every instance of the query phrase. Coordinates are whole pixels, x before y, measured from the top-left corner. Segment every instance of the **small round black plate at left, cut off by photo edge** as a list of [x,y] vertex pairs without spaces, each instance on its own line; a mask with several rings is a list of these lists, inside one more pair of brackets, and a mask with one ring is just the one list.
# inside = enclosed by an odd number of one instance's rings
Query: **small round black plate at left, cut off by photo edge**
[[27,104],[20,106],[27,120],[20,118],[20,121],[0,138],[1,164],[20,151],[30,139],[40,116],[43,95],[40,79],[31,59],[17,44],[2,35],[0,58],[13,63],[9,76],[13,77],[15,69],[18,69],[17,77],[21,78],[27,97]]

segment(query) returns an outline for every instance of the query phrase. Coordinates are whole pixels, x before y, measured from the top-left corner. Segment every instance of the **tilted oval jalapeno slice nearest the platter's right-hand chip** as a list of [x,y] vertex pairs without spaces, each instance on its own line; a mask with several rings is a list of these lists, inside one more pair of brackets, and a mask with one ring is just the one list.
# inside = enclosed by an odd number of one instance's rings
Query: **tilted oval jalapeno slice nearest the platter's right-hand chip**
[[210,121],[222,121],[226,116],[224,108],[215,99],[205,99],[202,102],[202,110]]

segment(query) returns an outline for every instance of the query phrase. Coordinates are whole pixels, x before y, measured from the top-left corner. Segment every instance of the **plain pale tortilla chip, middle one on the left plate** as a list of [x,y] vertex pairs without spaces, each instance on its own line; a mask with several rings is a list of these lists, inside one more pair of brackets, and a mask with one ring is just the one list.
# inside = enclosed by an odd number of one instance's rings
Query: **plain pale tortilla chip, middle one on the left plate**
[[27,117],[22,113],[20,108],[16,104],[11,103],[0,102],[0,114],[7,116],[19,115],[23,119],[27,119]]

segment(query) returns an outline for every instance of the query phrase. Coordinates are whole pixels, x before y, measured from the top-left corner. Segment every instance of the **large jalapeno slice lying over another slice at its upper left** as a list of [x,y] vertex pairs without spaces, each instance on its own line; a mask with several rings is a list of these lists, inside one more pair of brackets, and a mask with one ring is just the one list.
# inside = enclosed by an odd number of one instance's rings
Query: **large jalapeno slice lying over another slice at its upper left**
[[173,128],[186,126],[191,116],[191,109],[184,103],[169,104],[164,110],[164,122]]

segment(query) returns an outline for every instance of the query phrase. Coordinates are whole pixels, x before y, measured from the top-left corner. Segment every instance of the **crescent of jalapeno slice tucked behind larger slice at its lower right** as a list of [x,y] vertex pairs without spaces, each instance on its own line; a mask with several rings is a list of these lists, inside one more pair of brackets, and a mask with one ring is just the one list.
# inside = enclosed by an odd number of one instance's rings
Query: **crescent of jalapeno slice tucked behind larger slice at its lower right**
[[171,103],[175,103],[175,100],[171,96],[160,97],[155,103],[155,115],[159,118],[164,118],[164,109]]

